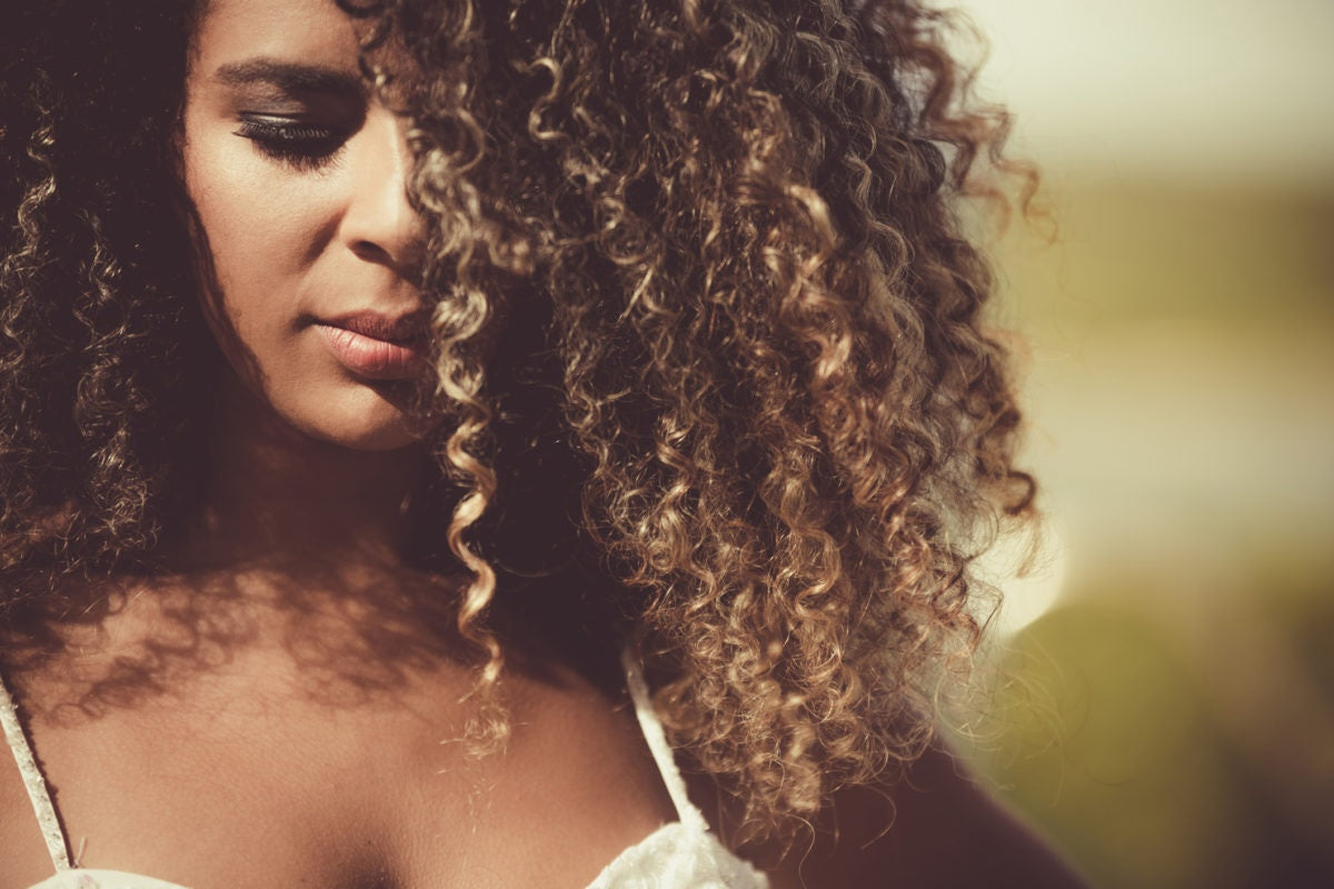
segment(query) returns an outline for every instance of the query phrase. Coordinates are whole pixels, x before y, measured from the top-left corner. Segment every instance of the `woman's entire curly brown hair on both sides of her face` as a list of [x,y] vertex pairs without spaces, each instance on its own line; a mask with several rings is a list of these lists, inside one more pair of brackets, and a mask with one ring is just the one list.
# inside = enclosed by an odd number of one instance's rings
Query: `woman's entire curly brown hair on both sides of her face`
[[[25,13],[64,44],[0,63],[11,637],[68,614],[53,576],[151,558],[189,497],[192,4],[149,5]],[[980,633],[968,564],[1031,512],[958,219],[979,161],[1005,167],[1005,115],[968,101],[948,17],[912,0],[340,5],[378,20],[366,71],[412,124],[438,347],[419,407],[448,419],[435,530],[472,574],[458,621],[490,732],[488,614],[515,564],[564,549],[555,528],[615,581],[602,604],[674,745],[752,836],[792,837],[930,741]],[[512,508],[534,492],[540,546]]]

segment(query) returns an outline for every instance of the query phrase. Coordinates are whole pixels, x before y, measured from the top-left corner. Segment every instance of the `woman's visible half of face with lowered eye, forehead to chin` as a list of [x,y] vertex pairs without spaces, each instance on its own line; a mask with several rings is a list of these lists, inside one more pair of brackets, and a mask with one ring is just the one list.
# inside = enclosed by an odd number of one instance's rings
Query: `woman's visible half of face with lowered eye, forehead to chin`
[[362,79],[358,32],[334,0],[207,7],[183,163],[216,281],[213,331],[296,429],[403,446],[426,321],[404,124]]

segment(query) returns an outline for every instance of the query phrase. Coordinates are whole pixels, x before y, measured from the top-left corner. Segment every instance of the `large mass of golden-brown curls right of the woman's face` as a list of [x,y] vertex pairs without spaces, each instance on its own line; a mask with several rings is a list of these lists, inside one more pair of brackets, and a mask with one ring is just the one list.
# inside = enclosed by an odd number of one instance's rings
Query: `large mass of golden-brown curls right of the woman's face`
[[954,216],[1005,117],[916,3],[388,5],[438,65],[408,113],[451,285],[546,304],[672,738],[790,834],[930,738],[967,564],[1031,500]]

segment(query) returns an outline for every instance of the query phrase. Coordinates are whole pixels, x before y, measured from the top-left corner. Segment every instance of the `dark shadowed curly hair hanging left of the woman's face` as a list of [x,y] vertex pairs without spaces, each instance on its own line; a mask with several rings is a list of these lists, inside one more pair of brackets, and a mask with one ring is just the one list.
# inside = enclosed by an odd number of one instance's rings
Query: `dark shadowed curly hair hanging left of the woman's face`
[[59,614],[68,602],[44,596],[53,577],[149,550],[191,490],[180,454],[196,450],[192,356],[211,339],[171,139],[189,15],[144,7],[135,20],[111,4],[25,4],[0,53],[7,624],[33,608]]

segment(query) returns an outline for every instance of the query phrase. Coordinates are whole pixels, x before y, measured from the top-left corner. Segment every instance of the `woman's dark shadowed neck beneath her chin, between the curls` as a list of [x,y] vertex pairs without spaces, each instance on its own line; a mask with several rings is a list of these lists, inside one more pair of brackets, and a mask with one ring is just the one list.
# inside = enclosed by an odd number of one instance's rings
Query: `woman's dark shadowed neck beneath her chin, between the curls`
[[403,564],[408,498],[427,465],[412,445],[366,452],[312,439],[239,385],[223,387],[209,476],[183,540],[199,566]]

